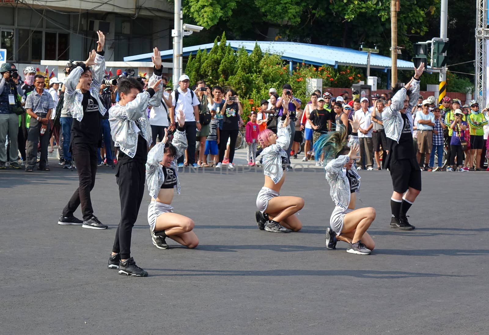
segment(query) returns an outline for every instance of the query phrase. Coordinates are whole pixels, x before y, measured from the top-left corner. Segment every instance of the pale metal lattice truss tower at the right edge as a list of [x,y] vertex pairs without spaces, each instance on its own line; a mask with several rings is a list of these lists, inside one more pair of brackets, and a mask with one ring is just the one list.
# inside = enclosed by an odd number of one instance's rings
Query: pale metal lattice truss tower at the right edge
[[489,41],[488,29],[488,0],[476,0],[477,17],[475,28],[475,98],[481,105],[486,105],[488,61],[487,43]]

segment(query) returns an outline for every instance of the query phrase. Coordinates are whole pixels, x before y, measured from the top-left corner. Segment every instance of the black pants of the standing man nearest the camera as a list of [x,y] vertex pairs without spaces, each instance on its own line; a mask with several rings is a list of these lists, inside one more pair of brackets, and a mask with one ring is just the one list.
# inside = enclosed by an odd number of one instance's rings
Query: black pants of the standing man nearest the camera
[[117,164],[115,173],[119,186],[121,220],[115,232],[112,252],[120,253],[121,259],[131,257],[131,235],[144,195],[145,166],[129,161]]

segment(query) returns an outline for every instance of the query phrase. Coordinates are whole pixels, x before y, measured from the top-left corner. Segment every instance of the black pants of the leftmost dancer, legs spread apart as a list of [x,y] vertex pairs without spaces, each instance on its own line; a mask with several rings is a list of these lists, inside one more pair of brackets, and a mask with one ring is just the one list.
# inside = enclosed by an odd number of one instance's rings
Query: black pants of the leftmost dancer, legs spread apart
[[83,220],[87,221],[93,215],[90,191],[95,185],[95,174],[97,173],[97,145],[72,144],[71,155],[78,171],[79,186],[63,209],[63,215],[73,215],[81,204]]

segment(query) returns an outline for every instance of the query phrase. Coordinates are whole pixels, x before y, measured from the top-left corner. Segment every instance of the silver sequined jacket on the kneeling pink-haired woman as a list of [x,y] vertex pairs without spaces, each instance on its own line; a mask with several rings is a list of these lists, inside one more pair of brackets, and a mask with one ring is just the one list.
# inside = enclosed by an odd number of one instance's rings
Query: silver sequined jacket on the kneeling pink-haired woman
[[289,147],[290,134],[292,133],[289,126],[282,126],[283,123],[282,120],[279,120],[278,122],[277,142],[266,147],[262,151],[263,173],[270,177],[275,184],[277,184],[284,175],[282,158],[287,160],[287,152],[285,152],[285,150]]

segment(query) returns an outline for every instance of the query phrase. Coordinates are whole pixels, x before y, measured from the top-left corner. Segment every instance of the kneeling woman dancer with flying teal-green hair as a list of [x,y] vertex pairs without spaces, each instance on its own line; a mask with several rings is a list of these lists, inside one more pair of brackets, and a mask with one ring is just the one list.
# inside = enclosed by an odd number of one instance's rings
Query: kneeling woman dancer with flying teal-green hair
[[331,228],[326,229],[326,247],[336,249],[338,240],[348,242],[349,253],[369,254],[375,247],[367,229],[375,219],[373,207],[355,209],[356,193],[360,188],[360,176],[353,166],[358,156],[357,131],[359,119],[350,120],[353,128],[349,146],[346,146],[346,129],[322,135],[314,144],[314,152],[325,152],[335,157],[326,167],[326,179],[330,195],[336,204],[331,214]]

